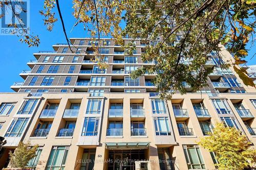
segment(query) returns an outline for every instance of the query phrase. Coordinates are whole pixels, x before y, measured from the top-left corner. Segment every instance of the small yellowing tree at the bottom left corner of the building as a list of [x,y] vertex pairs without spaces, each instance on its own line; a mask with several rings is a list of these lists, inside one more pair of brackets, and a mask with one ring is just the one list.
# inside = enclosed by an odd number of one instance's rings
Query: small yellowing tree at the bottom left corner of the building
[[30,147],[30,142],[19,142],[18,147],[14,150],[14,153],[9,152],[11,167],[25,167],[28,162],[36,156],[36,149],[38,145]]

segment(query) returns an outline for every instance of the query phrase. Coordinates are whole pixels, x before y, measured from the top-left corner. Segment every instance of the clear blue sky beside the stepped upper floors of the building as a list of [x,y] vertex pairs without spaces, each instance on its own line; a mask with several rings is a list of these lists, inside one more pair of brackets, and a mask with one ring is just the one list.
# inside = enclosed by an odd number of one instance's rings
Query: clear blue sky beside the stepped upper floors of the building
[[[66,43],[65,36],[62,31],[60,20],[55,23],[53,31],[48,32],[44,26],[42,16],[38,13],[42,10],[44,1],[30,1],[30,30],[34,35],[39,35],[39,47],[28,47],[27,44],[18,42],[19,38],[16,36],[0,36],[0,92],[13,92],[10,86],[14,82],[23,82],[19,74],[24,69],[30,69],[27,62],[35,59],[33,53],[38,51],[52,51],[52,45],[56,43]],[[60,8],[65,22],[67,34],[69,37],[89,37],[88,32],[83,30],[82,26],[75,27],[72,32],[75,18],[72,15],[72,1],[60,1]],[[64,12],[65,11],[65,12]],[[58,18],[58,13],[56,13]],[[246,58],[248,65],[256,64],[256,59],[250,60],[251,56],[256,53],[256,49],[249,51]]]

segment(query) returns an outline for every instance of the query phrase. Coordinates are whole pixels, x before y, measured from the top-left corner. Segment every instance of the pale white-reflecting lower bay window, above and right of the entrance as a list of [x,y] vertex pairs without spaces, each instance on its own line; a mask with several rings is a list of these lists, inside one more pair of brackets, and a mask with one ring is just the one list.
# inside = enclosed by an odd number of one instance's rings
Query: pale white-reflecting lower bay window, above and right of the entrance
[[156,135],[170,135],[168,117],[155,117],[154,125]]

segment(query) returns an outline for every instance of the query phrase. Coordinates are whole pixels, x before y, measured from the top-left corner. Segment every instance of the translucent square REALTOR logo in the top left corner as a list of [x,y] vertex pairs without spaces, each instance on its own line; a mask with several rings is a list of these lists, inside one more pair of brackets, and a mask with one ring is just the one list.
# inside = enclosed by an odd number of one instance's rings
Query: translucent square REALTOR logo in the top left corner
[[24,35],[29,33],[29,1],[0,0],[0,35]]

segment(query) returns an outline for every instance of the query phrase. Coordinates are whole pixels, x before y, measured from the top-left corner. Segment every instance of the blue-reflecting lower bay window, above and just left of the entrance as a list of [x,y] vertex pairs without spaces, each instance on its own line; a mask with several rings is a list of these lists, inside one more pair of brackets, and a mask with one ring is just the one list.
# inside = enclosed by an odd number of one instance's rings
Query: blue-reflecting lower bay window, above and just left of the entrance
[[99,118],[97,117],[85,117],[82,136],[97,136],[98,135]]

